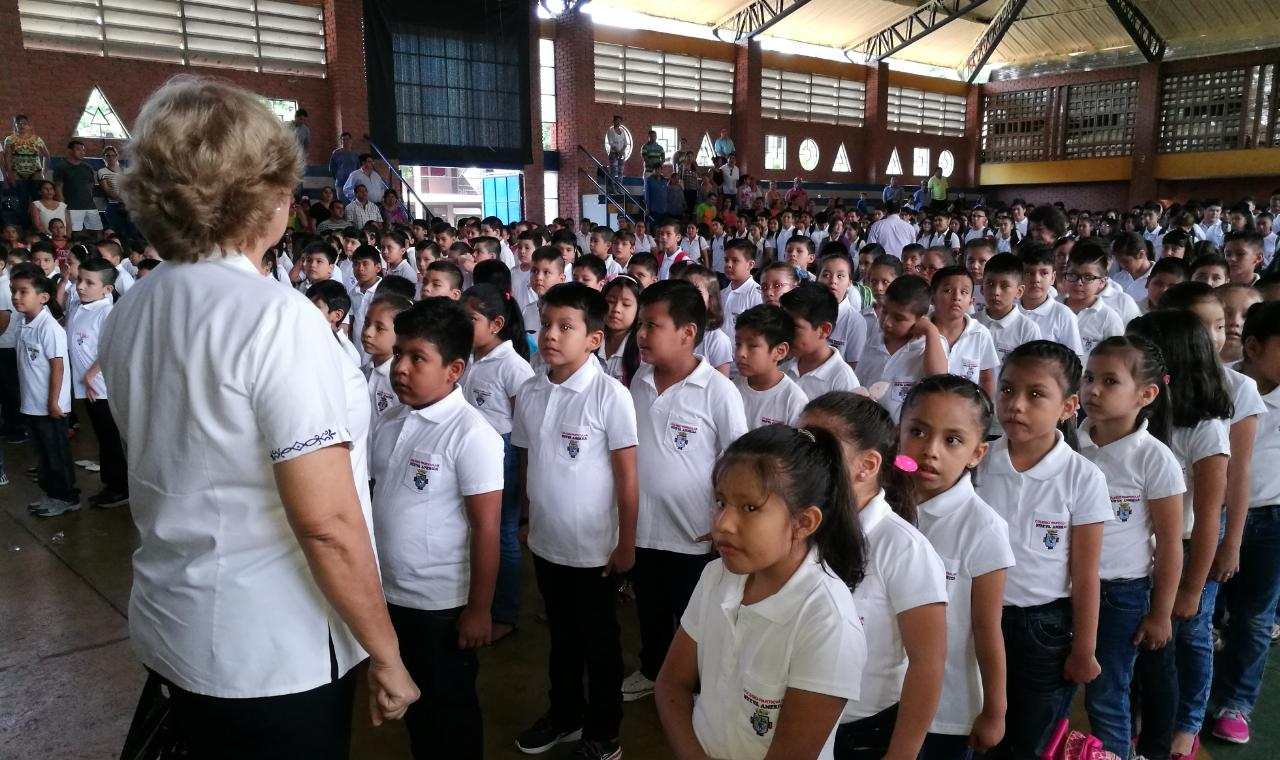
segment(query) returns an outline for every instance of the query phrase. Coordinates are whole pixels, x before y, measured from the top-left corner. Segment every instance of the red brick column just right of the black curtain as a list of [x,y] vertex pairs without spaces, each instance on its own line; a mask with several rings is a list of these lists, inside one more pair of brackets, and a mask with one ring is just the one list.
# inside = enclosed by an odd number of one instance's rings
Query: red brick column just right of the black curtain
[[[577,146],[603,155],[604,124],[594,119],[595,40],[591,18],[572,10],[556,19],[556,147],[559,150],[559,215],[579,216],[582,183],[579,168],[594,166],[577,152]],[[645,136],[631,133],[634,155],[639,155]]]

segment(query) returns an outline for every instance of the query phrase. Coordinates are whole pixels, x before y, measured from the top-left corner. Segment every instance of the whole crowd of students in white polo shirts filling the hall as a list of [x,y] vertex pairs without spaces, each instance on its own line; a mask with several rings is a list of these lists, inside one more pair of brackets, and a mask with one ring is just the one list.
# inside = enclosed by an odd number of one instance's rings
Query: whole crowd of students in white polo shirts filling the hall
[[[655,695],[680,757],[1039,757],[1078,686],[1120,757],[1193,757],[1207,716],[1248,741],[1280,601],[1280,276],[1270,211],[1206,206],[1108,229],[890,202],[652,237],[287,233],[261,275],[367,379],[415,755],[481,756],[475,649],[520,619],[522,545],[550,631],[529,754],[618,757],[623,702]],[[168,265],[111,235],[61,261],[0,244],[31,509],[79,509],[73,395],[101,447],[90,503],[124,504],[97,338]]]

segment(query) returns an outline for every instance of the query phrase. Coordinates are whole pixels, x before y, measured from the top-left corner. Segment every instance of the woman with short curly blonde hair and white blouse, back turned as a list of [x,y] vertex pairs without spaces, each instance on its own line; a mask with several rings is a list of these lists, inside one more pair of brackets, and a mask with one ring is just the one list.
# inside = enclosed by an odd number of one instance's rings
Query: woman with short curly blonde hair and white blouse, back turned
[[365,651],[375,723],[419,692],[352,475],[358,383],[320,312],[261,275],[301,147],[252,93],[183,75],[142,106],[131,156],[122,194],[165,260],[100,344],[140,535],[134,650],[193,756],[346,757]]

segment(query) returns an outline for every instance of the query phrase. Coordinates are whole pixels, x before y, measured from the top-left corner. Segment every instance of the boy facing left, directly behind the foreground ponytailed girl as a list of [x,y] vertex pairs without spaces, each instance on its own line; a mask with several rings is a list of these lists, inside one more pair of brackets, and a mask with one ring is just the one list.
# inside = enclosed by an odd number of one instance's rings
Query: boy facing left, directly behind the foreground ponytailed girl
[[640,370],[631,380],[639,447],[640,517],[635,583],[640,618],[640,669],[622,682],[622,699],[653,692],[654,681],[685,605],[712,559],[712,468],[746,432],[742,399],[728,377],[694,348],[707,330],[701,293],[684,280],[654,283],[640,293],[636,344]]

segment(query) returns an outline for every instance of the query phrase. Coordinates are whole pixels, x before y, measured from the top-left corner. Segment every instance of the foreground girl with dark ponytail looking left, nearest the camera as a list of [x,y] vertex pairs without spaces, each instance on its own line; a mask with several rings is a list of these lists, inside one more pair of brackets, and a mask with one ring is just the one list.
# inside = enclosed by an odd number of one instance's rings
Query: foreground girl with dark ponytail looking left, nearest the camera
[[719,559],[658,676],[667,740],[680,757],[831,760],[867,659],[849,594],[864,550],[840,443],[822,429],[759,427],[728,447],[713,480]]

